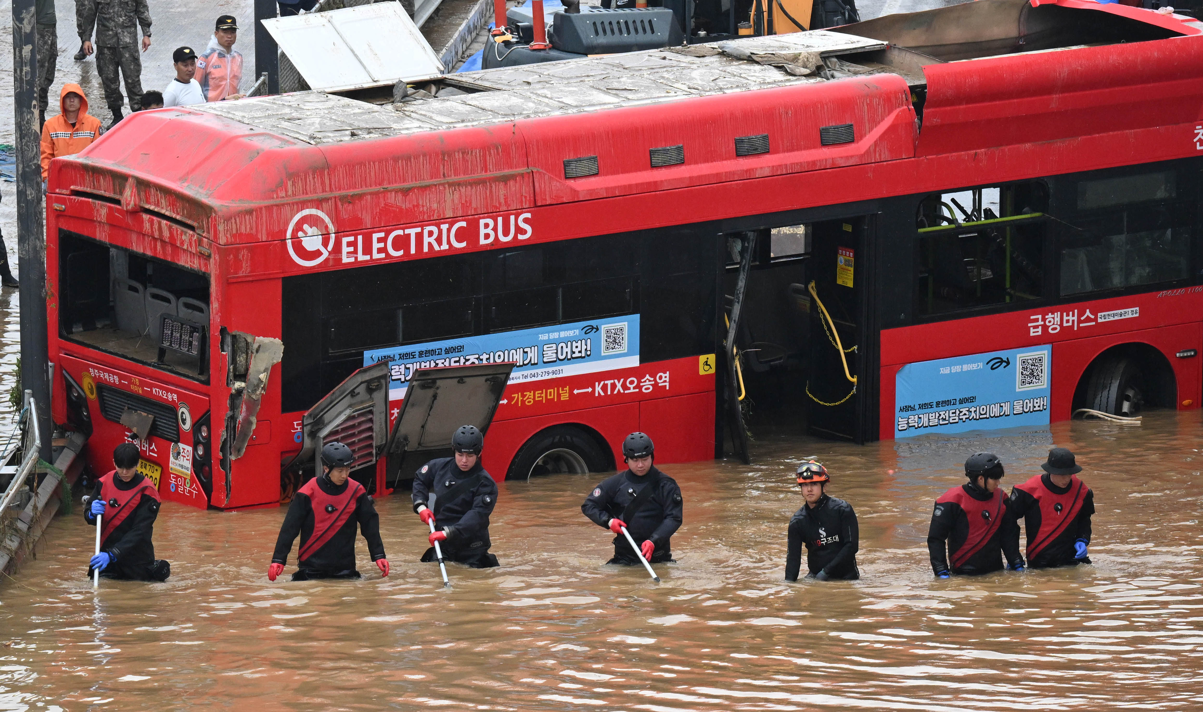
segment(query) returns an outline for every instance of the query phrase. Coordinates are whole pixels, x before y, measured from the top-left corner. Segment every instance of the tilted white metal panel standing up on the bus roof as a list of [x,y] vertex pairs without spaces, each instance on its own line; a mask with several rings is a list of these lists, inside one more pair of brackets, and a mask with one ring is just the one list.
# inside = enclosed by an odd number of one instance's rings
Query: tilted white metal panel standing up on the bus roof
[[399,2],[262,22],[315,90],[379,87],[443,73],[443,63]]

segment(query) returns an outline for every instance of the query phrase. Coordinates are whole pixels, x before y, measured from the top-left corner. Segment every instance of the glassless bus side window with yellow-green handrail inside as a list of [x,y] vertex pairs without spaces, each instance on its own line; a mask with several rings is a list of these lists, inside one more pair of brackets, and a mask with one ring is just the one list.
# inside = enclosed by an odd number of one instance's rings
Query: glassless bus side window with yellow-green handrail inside
[[974,188],[919,203],[914,307],[920,316],[1042,296],[1043,183]]

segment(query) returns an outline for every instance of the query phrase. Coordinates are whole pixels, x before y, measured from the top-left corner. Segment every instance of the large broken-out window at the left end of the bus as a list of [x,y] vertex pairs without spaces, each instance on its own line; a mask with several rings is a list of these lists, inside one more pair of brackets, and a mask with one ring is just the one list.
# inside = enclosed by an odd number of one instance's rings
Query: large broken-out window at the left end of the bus
[[60,230],[59,285],[63,338],[207,380],[208,275]]

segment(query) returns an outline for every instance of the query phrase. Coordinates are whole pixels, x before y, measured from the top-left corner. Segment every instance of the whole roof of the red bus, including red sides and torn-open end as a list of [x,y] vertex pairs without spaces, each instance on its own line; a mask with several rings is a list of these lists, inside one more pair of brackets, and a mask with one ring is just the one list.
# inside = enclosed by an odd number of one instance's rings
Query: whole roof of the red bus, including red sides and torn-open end
[[[168,242],[247,244],[282,239],[256,225],[288,225],[301,202],[330,201],[339,230],[360,230],[1193,126],[1203,44],[1185,36],[1199,34],[1192,18],[1091,0],[977,0],[437,77],[397,102],[387,87],[138,112],[52,161],[49,184],[196,233],[156,227]],[[1156,41],[1172,37],[1184,40]],[[656,147],[687,158],[648,166]],[[580,159],[593,174],[570,174]]]

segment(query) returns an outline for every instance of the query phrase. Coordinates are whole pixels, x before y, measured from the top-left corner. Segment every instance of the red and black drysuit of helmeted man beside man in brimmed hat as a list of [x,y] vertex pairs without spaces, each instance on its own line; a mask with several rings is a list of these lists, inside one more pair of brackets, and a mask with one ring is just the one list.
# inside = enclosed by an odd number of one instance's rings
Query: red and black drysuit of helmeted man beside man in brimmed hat
[[1019,526],[1009,515],[1009,502],[1002,487],[986,492],[965,483],[944,492],[928,529],[932,572],[989,574],[1003,568],[1000,553],[1008,565],[1021,564]]

